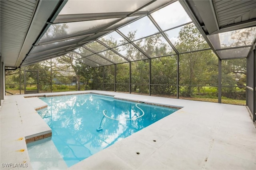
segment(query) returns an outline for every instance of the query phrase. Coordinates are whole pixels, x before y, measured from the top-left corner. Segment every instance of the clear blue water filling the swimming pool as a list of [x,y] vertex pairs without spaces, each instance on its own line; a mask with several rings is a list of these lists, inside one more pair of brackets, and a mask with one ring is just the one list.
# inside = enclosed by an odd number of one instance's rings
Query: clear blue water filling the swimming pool
[[68,167],[177,110],[144,103],[136,107],[134,102],[92,94],[41,100],[48,108],[38,114],[52,129],[52,142]]

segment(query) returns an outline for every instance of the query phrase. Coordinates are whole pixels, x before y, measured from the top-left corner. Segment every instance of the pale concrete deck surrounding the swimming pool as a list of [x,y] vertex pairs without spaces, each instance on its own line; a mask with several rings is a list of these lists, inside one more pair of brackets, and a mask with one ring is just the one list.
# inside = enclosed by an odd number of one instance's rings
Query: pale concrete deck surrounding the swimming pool
[[[245,106],[109,91],[5,96],[0,110],[1,169],[32,169],[25,139],[38,140],[51,131],[35,111],[45,107],[45,103],[33,96],[76,93],[114,95],[119,99],[183,108],[71,166],[70,170],[256,169],[256,128]],[[28,167],[6,167],[8,163]]]

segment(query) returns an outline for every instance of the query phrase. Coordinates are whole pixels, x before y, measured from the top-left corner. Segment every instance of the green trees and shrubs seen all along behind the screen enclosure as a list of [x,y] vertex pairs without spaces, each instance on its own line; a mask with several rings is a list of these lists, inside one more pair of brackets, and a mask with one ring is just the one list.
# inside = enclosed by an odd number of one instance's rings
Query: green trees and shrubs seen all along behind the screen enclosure
[[[65,24],[54,24],[52,30],[48,30],[46,38],[54,36],[62,36],[67,34],[68,26]],[[249,29],[250,31],[250,29]],[[231,44],[246,45],[243,35],[247,39],[250,33],[235,31],[231,35]],[[168,36],[168,35],[166,35]],[[135,40],[136,31],[128,33],[128,39]],[[79,48],[77,53],[68,53],[62,57],[58,57],[41,63],[29,65],[21,70],[6,71],[6,89],[19,89],[19,82],[24,82],[24,70],[38,71],[39,73],[39,89],[40,91],[50,91],[51,84],[53,91],[69,91],[69,90],[107,90],[114,91],[114,83],[116,83],[116,91],[129,92],[130,88],[130,65],[131,64],[131,90],[132,93],[149,93],[149,83],[151,80],[151,94],[165,97],[176,97],[177,82],[179,82],[179,92],[181,98],[217,101],[218,98],[218,57],[212,50],[198,49],[208,48],[208,44],[198,32],[194,24],[187,24],[180,29],[174,47],[179,55],[173,55],[174,50],[166,43],[161,34],[149,36],[133,43],[140,47],[151,58],[151,77],[150,59],[141,53],[132,43],[126,43],[121,40],[120,44],[113,37],[108,39],[101,38],[101,41],[117,52],[122,53],[124,57],[131,60],[131,63],[123,63],[122,57],[118,56],[112,50],[107,50],[98,42],[89,43],[86,46],[94,51],[102,51],[107,59],[114,61],[116,64],[116,82],[115,82],[115,66],[108,65],[103,67],[92,68],[84,64],[82,56],[92,55],[92,52],[85,48]],[[226,46],[228,47],[228,46]],[[105,51],[104,51],[105,50]],[[162,57],[164,56],[164,57]],[[179,56],[179,63],[177,63]],[[96,55],[93,57],[97,57]],[[92,61],[93,62],[93,61]],[[97,63],[104,63],[106,59],[99,59]],[[97,63],[93,63],[97,65]],[[104,65],[104,64],[103,64]],[[177,80],[177,67],[179,66],[179,80]],[[35,72],[34,72],[35,73]],[[26,82],[35,83],[36,74],[28,72]],[[21,77],[20,75],[21,74]],[[151,78],[151,79],[150,79]],[[71,83],[77,83],[72,85]],[[104,85],[103,85],[104,84]],[[230,99],[245,99],[246,85],[246,59],[231,59],[222,61],[222,98],[227,102]],[[234,86],[234,87],[228,87]],[[24,88],[24,87],[22,87]],[[35,88],[31,86],[28,88]],[[77,88],[77,89],[76,89]],[[234,103],[239,103],[234,101]]]

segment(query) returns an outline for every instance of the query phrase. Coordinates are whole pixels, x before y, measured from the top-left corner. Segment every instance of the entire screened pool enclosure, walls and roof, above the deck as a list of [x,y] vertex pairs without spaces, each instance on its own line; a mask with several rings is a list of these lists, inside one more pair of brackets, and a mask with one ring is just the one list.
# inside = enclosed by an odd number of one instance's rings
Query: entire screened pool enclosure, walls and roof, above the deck
[[6,94],[32,84],[37,93],[118,91],[255,113],[255,7],[253,0],[1,1]]

